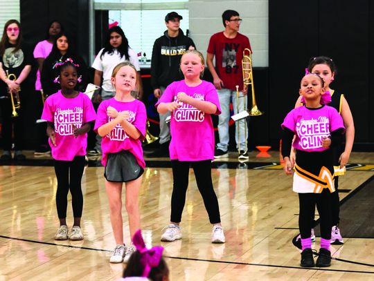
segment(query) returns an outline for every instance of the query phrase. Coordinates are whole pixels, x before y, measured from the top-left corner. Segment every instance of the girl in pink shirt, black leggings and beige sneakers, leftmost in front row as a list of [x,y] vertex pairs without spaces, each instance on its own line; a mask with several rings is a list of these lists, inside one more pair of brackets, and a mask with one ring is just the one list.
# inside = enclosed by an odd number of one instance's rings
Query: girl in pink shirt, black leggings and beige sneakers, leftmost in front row
[[[87,149],[87,132],[96,114],[92,102],[84,93],[75,90],[78,64],[66,59],[58,66],[60,75],[55,79],[61,90],[49,96],[44,104],[42,119],[47,121],[48,142],[51,146],[57,177],[56,205],[60,220],[55,240],[82,240],[80,219],[83,209],[81,181],[84,156]],[[68,236],[66,226],[67,195],[71,192],[74,224]]]

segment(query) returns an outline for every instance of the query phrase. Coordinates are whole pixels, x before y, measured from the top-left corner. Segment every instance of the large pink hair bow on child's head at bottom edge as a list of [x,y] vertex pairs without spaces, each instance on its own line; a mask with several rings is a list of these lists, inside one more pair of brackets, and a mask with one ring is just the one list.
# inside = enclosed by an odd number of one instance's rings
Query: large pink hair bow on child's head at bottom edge
[[145,247],[140,229],[134,234],[132,243],[136,247],[136,250],[141,253],[141,265],[143,265],[143,274],[141,276],[148,277],[152,267],[159,266],[160,260],[162,258],[163,246],[154,246],[151,249]]

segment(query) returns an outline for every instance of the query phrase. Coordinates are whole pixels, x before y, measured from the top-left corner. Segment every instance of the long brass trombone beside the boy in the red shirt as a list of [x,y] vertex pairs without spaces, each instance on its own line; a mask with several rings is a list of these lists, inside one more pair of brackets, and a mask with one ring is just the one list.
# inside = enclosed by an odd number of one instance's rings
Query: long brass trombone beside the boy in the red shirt
[[256,97],[254,93],[254,85],[253,85],[253,71],[252,71],[252,52],[249,48],[245,48],[243,50],[243,58],[242,58],[242,71],[243,71],[243,83],[244,88],[248,88],[251,85],[251,92],[252,92],[252,107],[249,111],[249,116],[259,116],[262,113],[256,103]]

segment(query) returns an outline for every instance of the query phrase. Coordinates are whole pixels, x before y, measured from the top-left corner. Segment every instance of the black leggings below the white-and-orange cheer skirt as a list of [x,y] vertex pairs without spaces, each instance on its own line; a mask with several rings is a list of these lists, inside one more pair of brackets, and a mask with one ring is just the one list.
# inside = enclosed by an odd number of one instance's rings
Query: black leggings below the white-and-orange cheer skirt
[[310,229],[314,227],[314,209],[317,205],[321,238],[331,239],[331,197],[332,193],[324,188],[322,193],[299,193],[299,229],[301,238],[310,237]]

